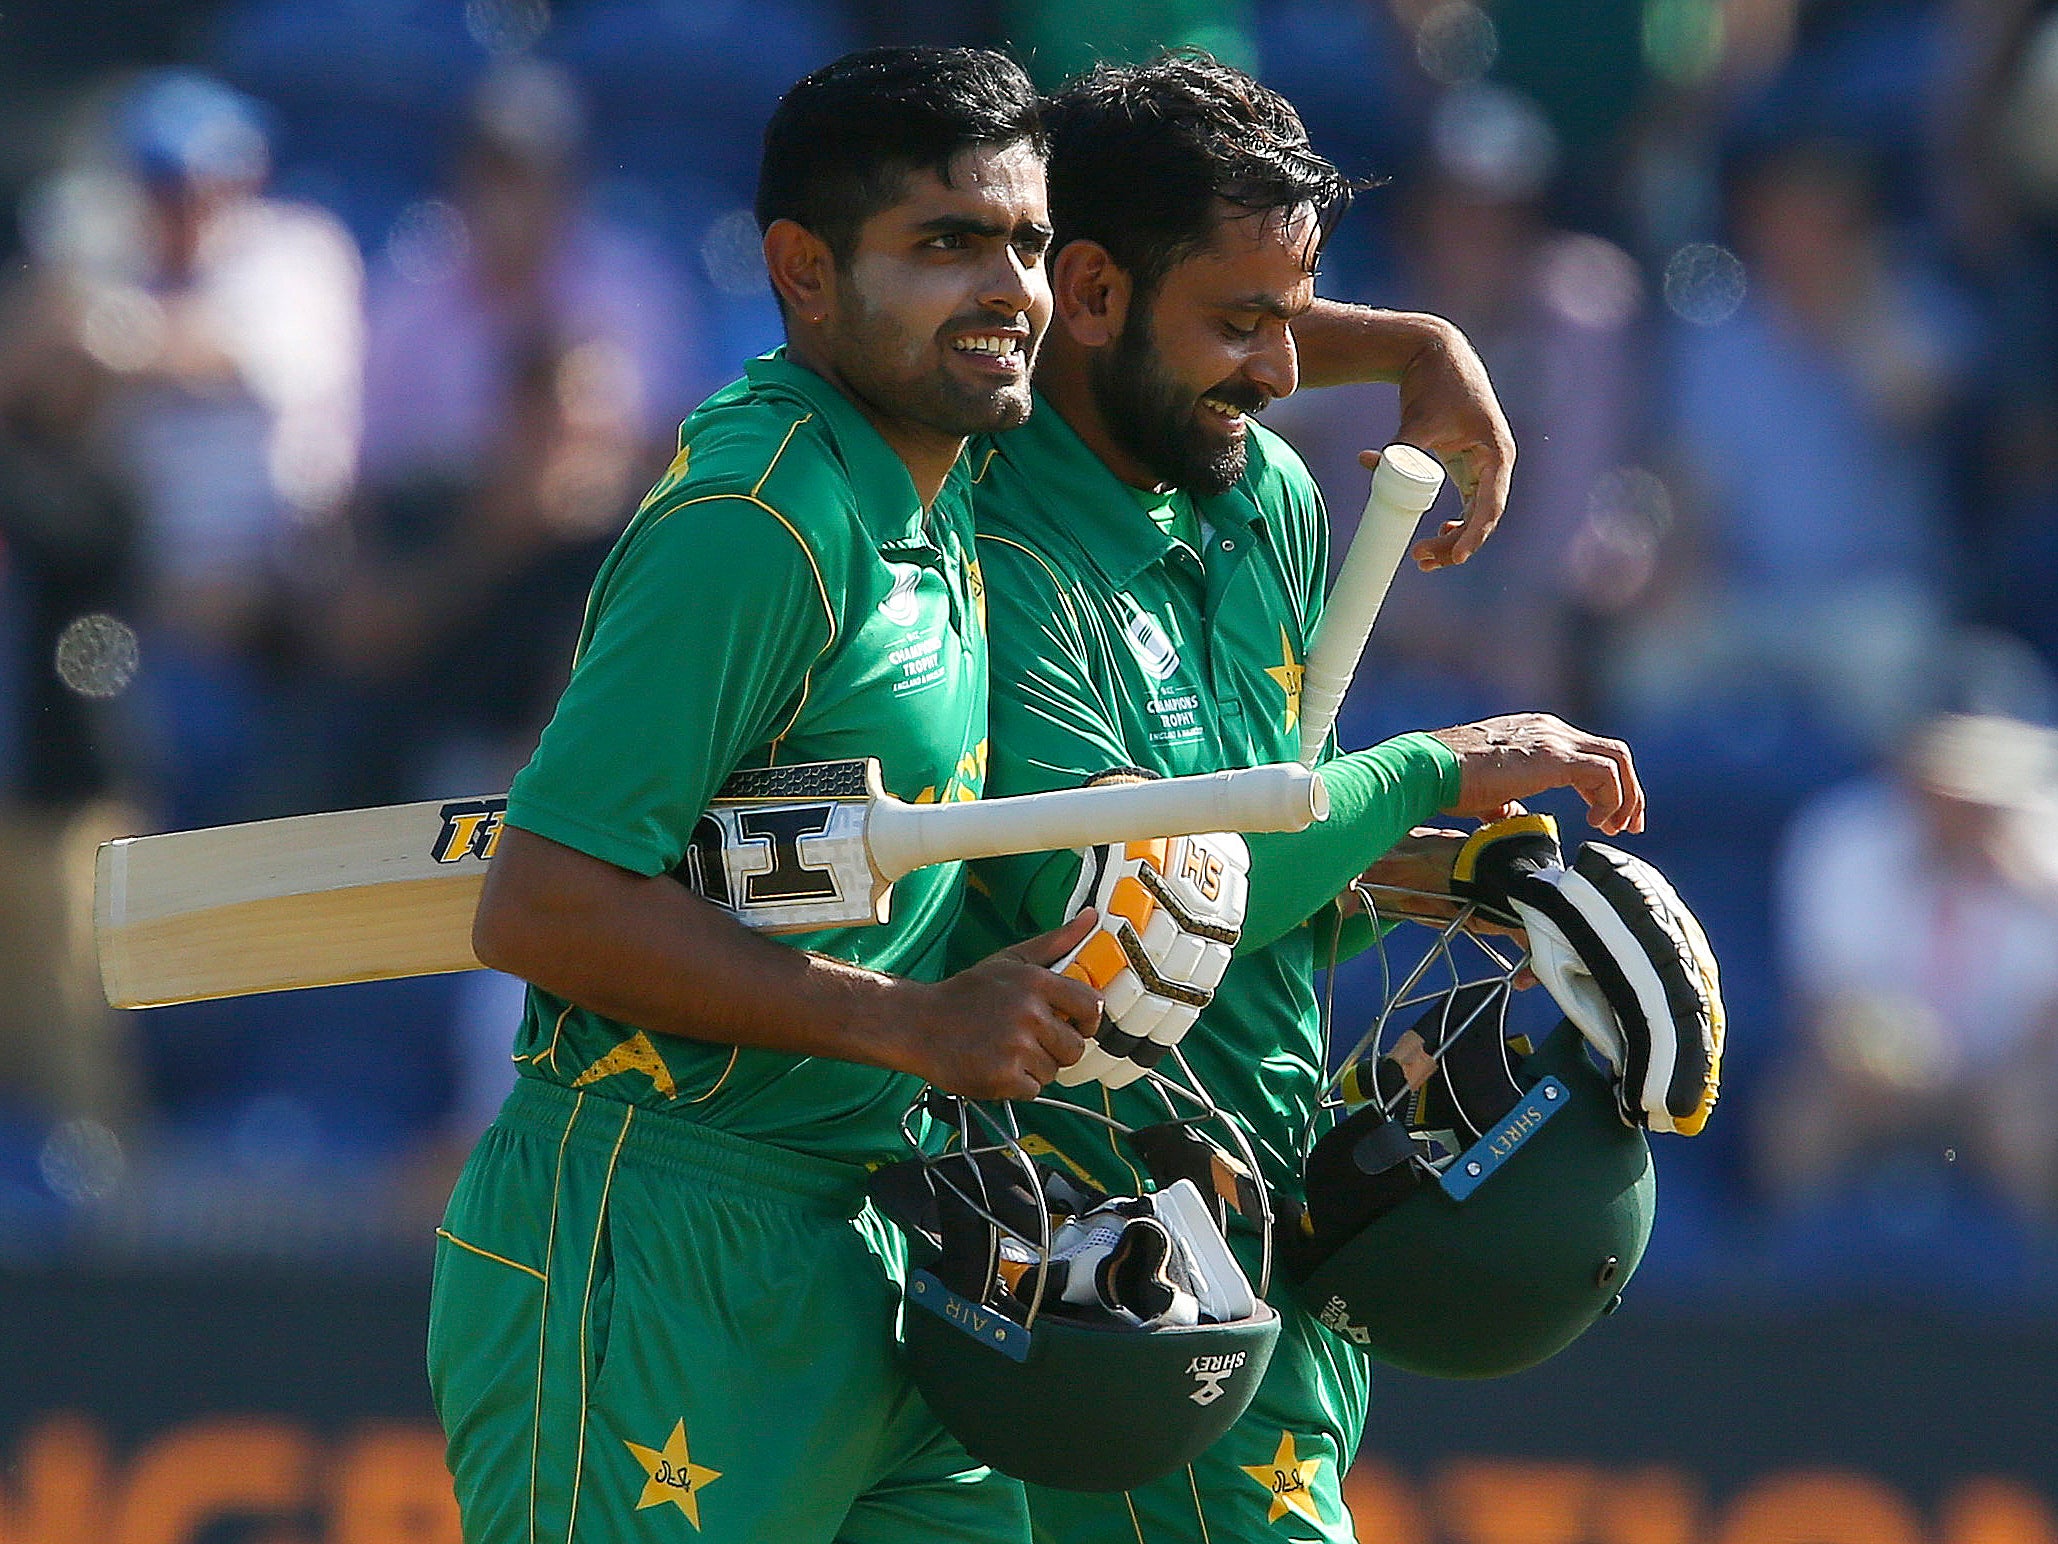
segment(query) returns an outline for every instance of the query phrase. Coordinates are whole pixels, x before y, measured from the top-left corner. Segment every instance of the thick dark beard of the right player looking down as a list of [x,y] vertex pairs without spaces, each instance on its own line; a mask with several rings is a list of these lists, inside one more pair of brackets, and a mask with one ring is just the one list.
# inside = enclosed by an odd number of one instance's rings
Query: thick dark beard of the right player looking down
[[1130,309],[1122,336],[1093,358],[1087,379],[1109,436],[1159,482],[1196,494],[1220,494],[1241,482],[1249,459],[1245,434],[1210,430],[1200,397],[1257,414],[1270,395],[1245,381],[1222,381],[1202,393],[1175,381],[1159,356],[1148,307]]

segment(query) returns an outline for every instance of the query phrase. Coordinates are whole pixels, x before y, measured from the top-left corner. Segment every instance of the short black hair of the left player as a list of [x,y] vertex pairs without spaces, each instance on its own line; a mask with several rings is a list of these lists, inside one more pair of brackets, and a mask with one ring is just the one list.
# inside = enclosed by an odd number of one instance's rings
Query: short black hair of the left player
[[980,146],[1045,154],[1041,103],[1006,54],[980,47],[871,47],[805,76],[766,124],[757,229],[794,220],[848,264],[858,231],[899,202],[908,177],[951,179]]

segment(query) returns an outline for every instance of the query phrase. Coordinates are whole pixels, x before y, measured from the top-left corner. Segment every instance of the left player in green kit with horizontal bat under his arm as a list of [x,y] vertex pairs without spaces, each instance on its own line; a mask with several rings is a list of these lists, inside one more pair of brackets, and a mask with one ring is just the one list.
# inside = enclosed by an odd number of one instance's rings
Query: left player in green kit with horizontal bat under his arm
[[438,1231],[469,1544],[1027,1536],[906,1375],[864,1178],[922,1083],[1025,1095],[1078,1058],[1099,998],[1043,966],[1085,926],[941,980],[955,865],[885,926],[784,941],[669,873],[735,768],[982,791],[959,459],[1027,416],[1050,317],[1035,93],[971,49],[840,60],[774,115],[757,214],[788,348],[685,422],[609,556],[475,924],[531,990]]

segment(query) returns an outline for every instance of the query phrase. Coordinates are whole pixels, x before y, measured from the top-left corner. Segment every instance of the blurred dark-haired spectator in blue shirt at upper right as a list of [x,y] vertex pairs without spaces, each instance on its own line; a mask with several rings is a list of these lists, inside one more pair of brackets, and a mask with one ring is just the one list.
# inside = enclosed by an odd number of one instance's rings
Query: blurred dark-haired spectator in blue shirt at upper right
[[1784,696],[1877,747],[1920,708],[1955,601],[1943,428],[1972,317],[1842,146],[1755,156],[1733,224],[1741,266],[1706,247],[1667,268],[1686,498],[1616,688],[1661,714]]

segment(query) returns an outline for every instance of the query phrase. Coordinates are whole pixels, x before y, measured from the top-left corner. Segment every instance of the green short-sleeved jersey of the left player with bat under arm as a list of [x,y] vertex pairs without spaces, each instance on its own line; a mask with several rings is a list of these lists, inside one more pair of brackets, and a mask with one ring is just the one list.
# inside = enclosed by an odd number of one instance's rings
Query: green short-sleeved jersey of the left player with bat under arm
[[[634,873],[673,871],[737,768],[875,756],[889,793],[978,799],[986,626],[963,467],[924,513],[836,387],[770,354],[679,430],[601,566],[572,679],[506,819]],[[885,926],[784,941],[934,980],[959,865]],[[852,1163],[903,1157],[918,1083],[854,1062],[648,1033],[529,988],[525,1077]]]

